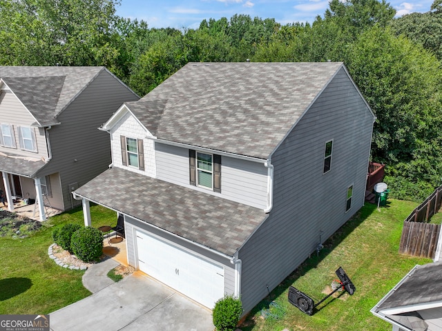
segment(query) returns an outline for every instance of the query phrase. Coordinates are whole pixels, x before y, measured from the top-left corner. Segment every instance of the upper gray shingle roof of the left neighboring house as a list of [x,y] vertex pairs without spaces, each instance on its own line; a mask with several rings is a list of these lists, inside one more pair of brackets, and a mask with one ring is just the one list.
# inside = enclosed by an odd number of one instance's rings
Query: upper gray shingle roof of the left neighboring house
[[0,66],[0,79],[35,117],[37,125],[57,123],[57,114],[104,67]]

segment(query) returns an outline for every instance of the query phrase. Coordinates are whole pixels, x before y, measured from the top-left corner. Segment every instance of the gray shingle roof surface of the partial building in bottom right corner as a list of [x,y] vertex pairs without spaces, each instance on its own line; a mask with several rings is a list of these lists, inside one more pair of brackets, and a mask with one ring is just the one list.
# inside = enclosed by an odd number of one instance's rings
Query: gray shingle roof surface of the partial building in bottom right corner
[[442,300],[442,262],[419,265],[407,279],[387,297],[378,311]]

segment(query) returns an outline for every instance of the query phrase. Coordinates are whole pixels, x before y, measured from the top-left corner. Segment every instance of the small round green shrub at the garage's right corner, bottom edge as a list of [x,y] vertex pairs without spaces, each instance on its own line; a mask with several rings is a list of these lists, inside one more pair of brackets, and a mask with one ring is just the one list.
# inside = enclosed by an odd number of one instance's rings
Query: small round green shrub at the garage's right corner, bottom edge
[[240,321],[241,314],[241,300],[227,295],[215,303],[212,312],[213,325],[218,331],[233,331]]

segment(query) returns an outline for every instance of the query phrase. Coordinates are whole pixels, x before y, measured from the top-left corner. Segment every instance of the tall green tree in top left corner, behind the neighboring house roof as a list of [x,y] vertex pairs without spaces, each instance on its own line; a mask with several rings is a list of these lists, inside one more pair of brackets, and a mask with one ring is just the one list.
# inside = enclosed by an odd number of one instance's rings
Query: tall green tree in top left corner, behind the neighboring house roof
[[3,65],[111,67],[114,0],[0,0]]

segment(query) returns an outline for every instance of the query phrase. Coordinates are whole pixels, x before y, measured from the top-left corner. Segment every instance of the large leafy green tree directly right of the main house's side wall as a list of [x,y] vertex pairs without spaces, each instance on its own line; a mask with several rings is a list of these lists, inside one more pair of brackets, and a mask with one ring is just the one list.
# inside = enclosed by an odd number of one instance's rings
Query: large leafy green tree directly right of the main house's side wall
[[413,183],[425,197],[442,174],[441,63],[378,26],[361,34],[347,54],[349,71],[377,117],[373,159],[387,163],[396,194],[416,199],[404,189]]

